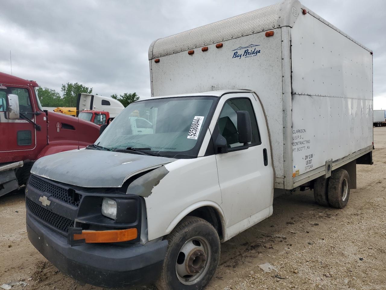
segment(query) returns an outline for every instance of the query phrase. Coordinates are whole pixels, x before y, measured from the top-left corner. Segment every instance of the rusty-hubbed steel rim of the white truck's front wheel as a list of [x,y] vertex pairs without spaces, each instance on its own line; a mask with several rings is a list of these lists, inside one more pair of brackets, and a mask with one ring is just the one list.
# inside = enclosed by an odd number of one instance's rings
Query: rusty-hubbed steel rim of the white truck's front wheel
[[190,238],[178,252],[176,259],[178,280],[184,285],[196,284],[207,273],[211,256],[212,251],[207,239],[201,236]]

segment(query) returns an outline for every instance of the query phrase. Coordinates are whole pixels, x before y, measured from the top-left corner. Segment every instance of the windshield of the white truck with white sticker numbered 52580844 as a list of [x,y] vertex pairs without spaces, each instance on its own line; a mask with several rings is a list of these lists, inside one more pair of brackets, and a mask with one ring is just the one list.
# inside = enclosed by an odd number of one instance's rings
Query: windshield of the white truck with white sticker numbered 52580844
[[174,97],[134,102],[107,126],[95,144],[110,150],[189,151],[203,134],[214,100]]

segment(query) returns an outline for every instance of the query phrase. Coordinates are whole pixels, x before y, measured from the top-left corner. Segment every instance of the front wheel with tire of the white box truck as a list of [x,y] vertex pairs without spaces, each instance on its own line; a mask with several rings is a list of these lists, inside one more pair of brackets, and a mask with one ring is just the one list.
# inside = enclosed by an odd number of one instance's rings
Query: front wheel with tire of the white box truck
[[215,228],[198,217],[185,217],[168,236],[168,250],[156,286],[160,290],[201,290],[220,261]]

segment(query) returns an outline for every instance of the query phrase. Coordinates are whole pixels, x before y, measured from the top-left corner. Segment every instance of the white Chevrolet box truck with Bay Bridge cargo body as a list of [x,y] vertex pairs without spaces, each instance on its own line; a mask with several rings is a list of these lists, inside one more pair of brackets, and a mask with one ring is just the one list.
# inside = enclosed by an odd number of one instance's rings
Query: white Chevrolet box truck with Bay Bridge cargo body
[[29,239],[76,280],[203,289],[275,188],[343,208],[372,163],[372,52],[298,1],[157,39],[149,64],[153,97],[32,168]]

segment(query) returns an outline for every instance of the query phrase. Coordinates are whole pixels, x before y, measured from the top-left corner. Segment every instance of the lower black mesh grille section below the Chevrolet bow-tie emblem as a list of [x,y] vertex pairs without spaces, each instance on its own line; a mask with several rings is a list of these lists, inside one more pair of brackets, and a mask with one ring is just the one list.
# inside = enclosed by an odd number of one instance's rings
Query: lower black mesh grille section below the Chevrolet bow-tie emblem
[[51,212],[44,208],[43,206],[38,205],[34,201],[26,198],[27,208],[33,213],[36,217],[40,218],[44,222],[52,225],[56,229],[61,230],[62,232],[68,232],[68,227],[73,227],[74,221],[69,218],[62,217],[57,213]]

